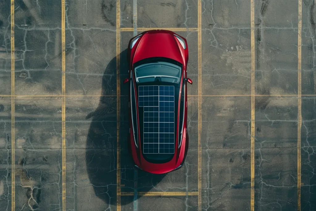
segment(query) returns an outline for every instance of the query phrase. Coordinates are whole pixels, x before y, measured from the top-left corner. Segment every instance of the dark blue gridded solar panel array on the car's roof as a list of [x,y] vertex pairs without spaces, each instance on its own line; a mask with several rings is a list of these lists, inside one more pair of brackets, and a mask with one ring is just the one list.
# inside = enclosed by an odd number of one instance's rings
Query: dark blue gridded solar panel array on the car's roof
[[139,86],[144,107],[143,153],[174,153],[174,86]]

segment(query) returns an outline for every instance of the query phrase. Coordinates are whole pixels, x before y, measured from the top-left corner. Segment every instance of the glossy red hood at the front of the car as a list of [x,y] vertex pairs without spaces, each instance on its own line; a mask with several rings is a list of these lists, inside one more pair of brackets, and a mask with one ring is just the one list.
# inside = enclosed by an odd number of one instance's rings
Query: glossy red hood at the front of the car
[[168,32],[145,33],[137,46],[133,63],[151,57],[166,57],[183,63],[178,44]]

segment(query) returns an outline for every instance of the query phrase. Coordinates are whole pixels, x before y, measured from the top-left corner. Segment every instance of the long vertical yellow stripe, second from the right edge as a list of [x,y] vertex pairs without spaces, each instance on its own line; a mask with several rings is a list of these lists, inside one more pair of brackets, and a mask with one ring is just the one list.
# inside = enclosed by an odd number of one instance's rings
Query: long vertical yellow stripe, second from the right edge
[[251,19],[251,191],[250,210],[254,211],[255,202],[255,6],[250,0]]

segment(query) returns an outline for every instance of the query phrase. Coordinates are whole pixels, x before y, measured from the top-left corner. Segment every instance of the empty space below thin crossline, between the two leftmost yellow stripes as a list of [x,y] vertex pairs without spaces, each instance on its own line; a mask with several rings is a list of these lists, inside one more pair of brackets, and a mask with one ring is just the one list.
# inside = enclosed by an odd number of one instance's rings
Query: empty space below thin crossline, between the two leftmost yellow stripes
[[17,209],[59,207],[62,169],[60,118],[61,100],[56,97],[15,99]]

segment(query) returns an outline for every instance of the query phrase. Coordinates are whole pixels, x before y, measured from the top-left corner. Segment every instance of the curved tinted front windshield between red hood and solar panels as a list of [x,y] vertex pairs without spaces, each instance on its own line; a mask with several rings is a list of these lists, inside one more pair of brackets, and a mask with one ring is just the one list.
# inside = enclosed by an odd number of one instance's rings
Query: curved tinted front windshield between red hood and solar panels
[[136,83],[170,82],[179,83],[181,67],[168,62],[155,62],[139,65],[135,68]]

